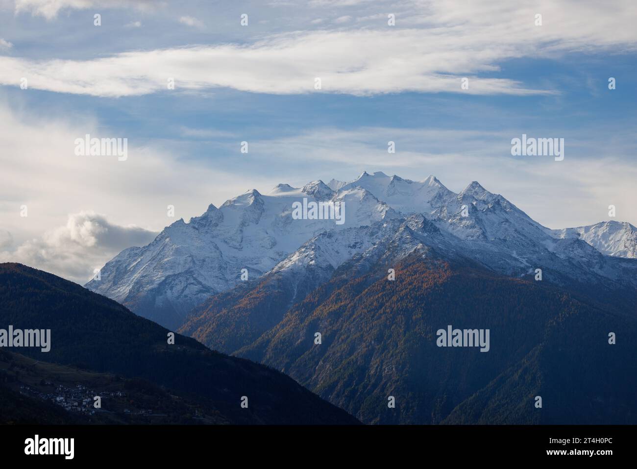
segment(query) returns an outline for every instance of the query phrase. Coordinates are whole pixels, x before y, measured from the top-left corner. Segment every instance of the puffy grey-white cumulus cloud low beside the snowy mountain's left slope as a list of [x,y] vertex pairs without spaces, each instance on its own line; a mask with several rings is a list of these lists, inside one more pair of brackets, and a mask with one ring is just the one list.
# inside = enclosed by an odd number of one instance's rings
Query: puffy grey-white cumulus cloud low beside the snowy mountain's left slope
[[27,240],[13,252],[0,252],[0,261],[35,266],[83,284],[105,259],[127,247],[145,245],[155,236],[140,227],[117,226],[93,212],[72,213],[65,226]]

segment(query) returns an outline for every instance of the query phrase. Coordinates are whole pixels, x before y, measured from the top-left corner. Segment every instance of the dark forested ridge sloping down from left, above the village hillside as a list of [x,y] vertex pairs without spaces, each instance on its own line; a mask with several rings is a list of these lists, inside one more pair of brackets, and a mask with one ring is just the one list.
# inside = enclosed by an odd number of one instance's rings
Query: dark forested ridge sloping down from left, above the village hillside
[[[51,329],[51,350],[13,349],[40,361],[140,377],[214,408],[227,422],[352,424],[343,410],[276,370],[229,357],[50,273],[0,264],[0,328]],[[248,396],[248,408],[241,408]],[[1,405],[1,404],[0,404]]]

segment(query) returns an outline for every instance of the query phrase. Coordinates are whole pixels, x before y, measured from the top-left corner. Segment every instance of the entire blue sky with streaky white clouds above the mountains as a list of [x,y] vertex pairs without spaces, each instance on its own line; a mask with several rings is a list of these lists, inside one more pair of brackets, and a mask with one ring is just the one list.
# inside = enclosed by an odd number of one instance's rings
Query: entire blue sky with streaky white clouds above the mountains
[[[0,0],[0,259],[78,279],[168,204],[188,220],[364,170],[478,180],[552,228],[611,204],[637,224],[635,20],[630,1]],[[129,160],[79,161],[86,133]],[[564,138],[564,161],[512,156],[522,133]]]

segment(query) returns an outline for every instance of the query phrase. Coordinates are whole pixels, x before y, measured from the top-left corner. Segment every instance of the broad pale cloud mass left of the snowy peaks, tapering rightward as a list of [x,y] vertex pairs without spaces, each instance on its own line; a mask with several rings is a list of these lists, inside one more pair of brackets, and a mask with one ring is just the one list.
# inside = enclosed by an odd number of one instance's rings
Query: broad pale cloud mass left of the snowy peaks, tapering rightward
[[[90,115],[48,115],[19,113],[0,100],[0,129],[11,129],[0,132],[0,262],[83,283],[120,250],[147,243],[176,220],[253,187],[273,187],[258,174],[225,173],[134,139],[126,161],[76,156],[74,141],[86,133],[127,136],[111,134]],[[27,217],[20,217],[22,205]]]

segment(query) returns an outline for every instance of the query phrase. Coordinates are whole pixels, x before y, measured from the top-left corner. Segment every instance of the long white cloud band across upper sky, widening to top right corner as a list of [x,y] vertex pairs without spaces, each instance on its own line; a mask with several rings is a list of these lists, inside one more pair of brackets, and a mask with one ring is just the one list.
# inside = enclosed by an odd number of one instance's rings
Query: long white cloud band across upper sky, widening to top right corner
[[[15,85],[25,76],[35,89],[119,97],[166,91],[166,79],[174,77],[178,90],[300,94],[315,92],[320,77],[321,92],[524,95],[552,90],[497,76],[501,62],[637,47],[637,8],[630,1],[603,9],[575,1],[409,5],[412,10],[396,13],[401,27],[382,22],[376,29],[297,31],[246,44],[138,50],[86,61],[0,57],[0,83]],[[537,11],[542,26],[534,25]],[[468,90],[461,89],[465,76]]]

